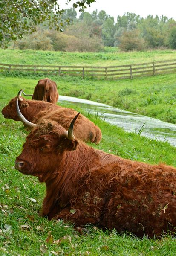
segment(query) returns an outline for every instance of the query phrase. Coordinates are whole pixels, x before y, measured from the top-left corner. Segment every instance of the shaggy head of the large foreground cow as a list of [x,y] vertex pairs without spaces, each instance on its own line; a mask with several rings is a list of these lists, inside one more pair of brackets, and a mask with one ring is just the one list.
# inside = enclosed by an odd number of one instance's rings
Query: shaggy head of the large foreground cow
[[59,166],[66,162],[66,152],[78,146],[79,142],[73,135],[78,115],[72,120],[68,131],[52,120],[41,119],[37,125],[33,124],[23,151],[16,158],[15,168],[23,174],[37,176],[41,182],[54,178]]

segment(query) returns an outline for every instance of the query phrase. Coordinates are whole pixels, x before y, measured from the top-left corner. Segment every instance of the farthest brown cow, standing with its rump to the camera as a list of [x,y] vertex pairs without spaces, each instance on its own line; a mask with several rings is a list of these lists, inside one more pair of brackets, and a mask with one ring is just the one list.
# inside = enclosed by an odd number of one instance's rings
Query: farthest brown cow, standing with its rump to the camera
[[38,81],[34,88],[32,99],[44,100],[46,102],[57,103],[59,98],[57,84],[49,78]]

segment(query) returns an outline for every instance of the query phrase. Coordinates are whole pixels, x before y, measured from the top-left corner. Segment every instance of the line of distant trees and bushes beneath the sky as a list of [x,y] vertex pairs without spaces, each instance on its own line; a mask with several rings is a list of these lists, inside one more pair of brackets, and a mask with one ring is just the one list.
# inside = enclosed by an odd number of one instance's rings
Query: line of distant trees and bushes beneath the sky
[[37,31],[15,41],[19,49],[98,52],[104,46],[119,47],[122,51],[156,48],[176,49],[176,21],[166,16],[146,18],[127,12],[117,21],[104,10],[81,12],[65,9],[63,20],[69,20],[64,31],[49,29],[49,23],[37,26]]

